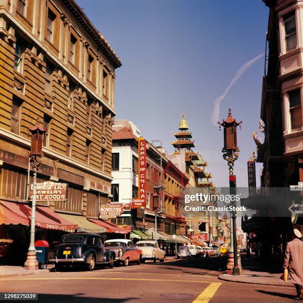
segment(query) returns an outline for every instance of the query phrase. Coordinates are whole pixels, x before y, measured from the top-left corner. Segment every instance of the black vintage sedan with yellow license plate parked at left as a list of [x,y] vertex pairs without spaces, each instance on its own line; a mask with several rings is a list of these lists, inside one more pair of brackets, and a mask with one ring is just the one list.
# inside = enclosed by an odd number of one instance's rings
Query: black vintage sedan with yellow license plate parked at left
[[96,264],[113,267],[115,253],[105,250],[101,237],[97,234],[76,233],[61,237],[60,243],[49,261],[55,262],[55,269],[62,270],[64,265],[84,265],[94,270]]

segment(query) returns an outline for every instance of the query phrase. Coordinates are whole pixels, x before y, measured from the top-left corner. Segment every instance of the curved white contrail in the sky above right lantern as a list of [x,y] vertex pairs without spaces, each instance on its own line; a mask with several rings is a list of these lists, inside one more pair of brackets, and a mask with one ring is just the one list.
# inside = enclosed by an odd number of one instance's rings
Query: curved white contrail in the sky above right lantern
[[254,57],[253,59],[249,60],[248,62],[244,63],[240,69],[236,72],[234,78],[232,79],[232,81],[230,82],[229,86],[226,88],[225,92],[223,95],[219,96],[216,98],[216,100],[213,102],[213,112],[211,115],[211,122],[214,125],[218,125],[218,121],[219,121],[219,115],[220,115],[220,105],[222,100],[226,97],[227,93],[229,92],[229,90],[231,89],[231,87],[235,84],[235,82],[244,74],[244,72],[258,59],[260,59],[261,57],[264,56],[264,53],[260,53],[259,55],[257,55],[256,57]]

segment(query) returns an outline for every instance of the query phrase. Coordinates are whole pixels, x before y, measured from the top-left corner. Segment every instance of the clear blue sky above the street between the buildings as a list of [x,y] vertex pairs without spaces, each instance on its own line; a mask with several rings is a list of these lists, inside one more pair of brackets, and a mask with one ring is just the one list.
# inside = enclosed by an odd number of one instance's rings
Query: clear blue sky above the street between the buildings
[[[118,119],[133,121],[148,141],[168,152],[184,112],[197,147],[218,187],[228,186],[223,132],[211,121],[214,100],[239,68],[265,50],[268,8],[261,0],[77,0],[120,56],[116,70]],[[258,131],[264,57],[229,90],[220,120],[243,120],[235,162],[237,186],[246,187],[247,160]],[[260,165],[257,165],[257,179]]]

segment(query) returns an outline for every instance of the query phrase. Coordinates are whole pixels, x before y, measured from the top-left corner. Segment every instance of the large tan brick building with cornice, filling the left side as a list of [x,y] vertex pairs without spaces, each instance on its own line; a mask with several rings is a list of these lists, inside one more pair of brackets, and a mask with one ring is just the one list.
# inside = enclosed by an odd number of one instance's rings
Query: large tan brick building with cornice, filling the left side
[[[0,35],[1,211],[8,203],[28,203],[28,128],[39,119],[48,131],[38,182],[67,183],[68,189],[64,202],[37,204],[82,230],[103,231],[86,217],[98,218],[99,204],[111,199],[119,57],[74,0],[2,0]],[[2,225],[0,238],[15,237],[26,248],[26,228],[13,226]],[[37,228],[38,238],[59,235]]]

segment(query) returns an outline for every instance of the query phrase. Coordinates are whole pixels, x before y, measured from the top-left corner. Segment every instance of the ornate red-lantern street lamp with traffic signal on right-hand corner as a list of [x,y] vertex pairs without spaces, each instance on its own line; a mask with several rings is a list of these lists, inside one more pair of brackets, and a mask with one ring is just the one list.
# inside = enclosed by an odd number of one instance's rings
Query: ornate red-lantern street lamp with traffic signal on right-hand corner
[[[236,192],[236,176],[234,175],[234,162],[239,157],[239,148],[237,146],[237,126],[239,126],[242,121],[236,121],[231,114],[231,109],[229,108],[228,117],[223,122],[218,122],[219,129],[221,126],[224,128],[224,147],[222,149],[223,158],[227,161],[229,166],[229,188],[230,194],[234,195]],[[240,125],[241,129],[241,125]],[[237,248],[237,234],[236,234],[236,212],[233,211],[232,215],[232,232],[230,240],[233,240],[233,253],[234,253],[234,266],[233,275],[240,275],[240,269],[238,267],[238,248]]]

